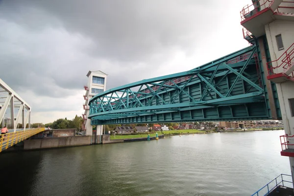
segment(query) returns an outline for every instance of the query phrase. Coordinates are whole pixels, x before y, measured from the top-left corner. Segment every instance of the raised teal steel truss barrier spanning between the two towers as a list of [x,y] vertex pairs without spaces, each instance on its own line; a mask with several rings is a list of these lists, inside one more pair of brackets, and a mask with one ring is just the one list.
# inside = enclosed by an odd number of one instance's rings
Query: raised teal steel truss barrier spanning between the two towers
[[270,119],[256,46],[181,73],[107,90],[89,101],[92,124]]

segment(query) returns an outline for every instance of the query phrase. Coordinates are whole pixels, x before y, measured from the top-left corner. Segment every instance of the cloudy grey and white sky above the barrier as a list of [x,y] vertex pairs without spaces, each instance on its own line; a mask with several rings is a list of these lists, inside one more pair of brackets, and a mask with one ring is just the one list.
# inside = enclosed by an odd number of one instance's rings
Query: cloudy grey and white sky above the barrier
[[0,0],[0,78],[32,123],[83,113],[88,71],[106,89],[184,72],[248,43],[250,0]]

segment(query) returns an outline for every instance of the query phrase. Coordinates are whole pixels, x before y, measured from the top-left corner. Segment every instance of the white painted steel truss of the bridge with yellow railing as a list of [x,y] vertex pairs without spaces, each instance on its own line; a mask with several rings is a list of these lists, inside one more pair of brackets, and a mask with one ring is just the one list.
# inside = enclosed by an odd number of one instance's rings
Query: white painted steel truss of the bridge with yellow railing
[[[18,112],[16,112],[17,110]],[[0,79],[0,122],[2,122],[2,127],[5,125],[4,119],[6,113],[10,113],[11,128],[14,129],[14,132],[18,128],[20,119],[22,119],[22,128],[24,130],[27,123],[28,127],[30,127],[31,107]],[[6,119],[7,121],[9,120],[9,118]]]

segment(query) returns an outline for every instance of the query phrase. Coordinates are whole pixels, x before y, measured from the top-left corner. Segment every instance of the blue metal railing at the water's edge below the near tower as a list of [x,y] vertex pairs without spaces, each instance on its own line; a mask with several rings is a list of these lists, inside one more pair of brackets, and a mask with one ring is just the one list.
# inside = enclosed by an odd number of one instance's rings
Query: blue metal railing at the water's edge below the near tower
[[290,178],[290,177],[292,179],[292,175],[282,173],[282,174],[278,175],[276,178],[274,178],[273,180],[271,180],[264,187],[259,189],[257,192],[252,194],[251,196],[269,196],[270,192],[272,190],[274,190],[275,188],[277,188],[278,186],[283,186],[284,187],[285,184],[288,184],[288,183],[289,183],[290,186],[292,186],[290,184],[290,183],[293,183],[292,181],[285,180],[286,178]]

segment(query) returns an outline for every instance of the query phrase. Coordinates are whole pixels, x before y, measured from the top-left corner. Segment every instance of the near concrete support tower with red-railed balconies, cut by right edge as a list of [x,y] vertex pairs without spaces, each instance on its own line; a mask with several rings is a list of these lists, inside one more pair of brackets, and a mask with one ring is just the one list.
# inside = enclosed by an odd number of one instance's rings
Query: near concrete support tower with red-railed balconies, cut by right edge
[[[285,133],[282,156],[289,156],[294,177],[294,0],[252,0],[241,11],[244,38],[256,42],[267,77],[268,92],[276,87]],[[272,117],[274,107],[269,93]],[[275,108],[274,108],[275,109]],[[294,180],[293,180],[294,181]]]

